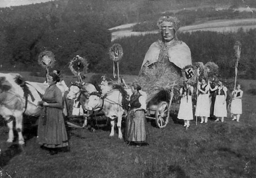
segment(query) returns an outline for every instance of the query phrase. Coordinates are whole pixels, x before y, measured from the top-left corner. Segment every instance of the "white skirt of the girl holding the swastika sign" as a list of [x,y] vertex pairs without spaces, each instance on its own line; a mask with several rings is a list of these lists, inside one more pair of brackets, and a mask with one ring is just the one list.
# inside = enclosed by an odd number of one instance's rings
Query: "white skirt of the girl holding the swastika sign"
[[181,98],[178,119],[193,120],[191,96],[185,96]]

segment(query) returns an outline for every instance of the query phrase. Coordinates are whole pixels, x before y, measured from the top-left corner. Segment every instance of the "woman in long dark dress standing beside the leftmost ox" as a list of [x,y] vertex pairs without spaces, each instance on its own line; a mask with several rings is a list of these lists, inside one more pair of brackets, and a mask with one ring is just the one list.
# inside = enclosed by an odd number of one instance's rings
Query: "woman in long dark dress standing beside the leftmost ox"
[[59,77],[52,73],[49,75],[49,87],[39,105],[42,107],[37,130],[37,141],[42,147],[49,149],[50,154],[56,154],[59,149],[68,150],[68,136],[63,119],[62,95],[56,86]]

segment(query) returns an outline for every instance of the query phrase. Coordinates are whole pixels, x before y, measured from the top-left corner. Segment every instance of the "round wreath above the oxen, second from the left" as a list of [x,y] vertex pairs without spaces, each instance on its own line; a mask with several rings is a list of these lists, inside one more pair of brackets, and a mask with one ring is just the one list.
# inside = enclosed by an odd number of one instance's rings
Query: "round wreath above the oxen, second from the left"
[[88,65],[89,63],[86,58],[77,55],[76,57],[71,59],[69,63],[69,69],[74,75],[77,75],[80,72],[86,74],[88,70]]

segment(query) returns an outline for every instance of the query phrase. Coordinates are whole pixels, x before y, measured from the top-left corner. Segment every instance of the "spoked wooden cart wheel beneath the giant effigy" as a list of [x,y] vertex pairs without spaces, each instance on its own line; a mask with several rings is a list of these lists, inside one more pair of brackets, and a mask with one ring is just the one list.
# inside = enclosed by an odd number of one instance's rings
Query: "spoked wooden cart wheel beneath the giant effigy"
[[164,128],[168,121],[169,121],[169,114],[170,110],[168,107],[168,103],[166,101],[161,101],[158,104],[157,110],[156,110],[156,124],[159,128]]

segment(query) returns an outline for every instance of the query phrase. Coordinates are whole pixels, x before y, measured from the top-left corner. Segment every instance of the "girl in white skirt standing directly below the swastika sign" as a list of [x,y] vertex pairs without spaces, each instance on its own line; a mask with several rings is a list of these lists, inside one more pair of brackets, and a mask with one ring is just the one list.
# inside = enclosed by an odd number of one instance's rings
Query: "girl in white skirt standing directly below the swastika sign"
[[187,83],[185,83],[184,86],[180,88],[180,95],[182,96],[182,98],[180,100],[178,119],[184,120],[184,127],[189,127],[189,121],[193,120],[193,91],[194,87]]

